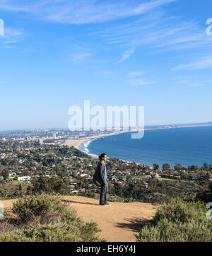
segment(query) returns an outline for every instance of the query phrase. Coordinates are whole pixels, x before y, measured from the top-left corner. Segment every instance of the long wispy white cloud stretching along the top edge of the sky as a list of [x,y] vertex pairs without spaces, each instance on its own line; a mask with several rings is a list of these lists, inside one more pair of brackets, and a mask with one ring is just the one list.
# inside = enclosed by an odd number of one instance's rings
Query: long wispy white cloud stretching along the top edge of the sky
[[29,13],[57,23],[102,23],[119,18],[138,16],[176,0],[1,0],[2,11]]

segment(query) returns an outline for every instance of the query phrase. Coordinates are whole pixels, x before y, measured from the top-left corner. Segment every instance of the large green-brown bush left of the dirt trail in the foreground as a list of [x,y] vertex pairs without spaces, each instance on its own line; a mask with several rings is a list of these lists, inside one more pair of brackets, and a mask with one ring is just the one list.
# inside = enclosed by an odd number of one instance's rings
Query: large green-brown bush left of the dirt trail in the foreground
[[[95,222],[83,223],[59,197],[41,194],[23,197],[13,204],[14,222],[1,222],[0,242],[104,242],[96,235]],[[0,227],[1,227],[0,225]]]

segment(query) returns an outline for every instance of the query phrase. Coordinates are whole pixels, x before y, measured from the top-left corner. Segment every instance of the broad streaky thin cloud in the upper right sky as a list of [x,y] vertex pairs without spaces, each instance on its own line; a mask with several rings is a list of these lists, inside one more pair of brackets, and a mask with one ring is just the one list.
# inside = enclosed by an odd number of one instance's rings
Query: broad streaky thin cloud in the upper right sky
[[163,11],[144,13],[136,21],[112,25],[96,32],[109,44],[119,47],[146,46],[151,52],[212,47],[212,37],[196,21],[182,21]]

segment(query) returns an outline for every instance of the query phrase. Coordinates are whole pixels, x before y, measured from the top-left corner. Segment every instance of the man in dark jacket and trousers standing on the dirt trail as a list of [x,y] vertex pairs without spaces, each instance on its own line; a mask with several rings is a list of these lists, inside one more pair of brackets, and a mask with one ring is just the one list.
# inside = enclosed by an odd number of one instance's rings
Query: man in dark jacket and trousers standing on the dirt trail
[[95,168],[95,174],[93,175],[93,182],[95,185],[101,186],[100,193],[100,205],[109,206],[107,203],[107,192],[108,192],[108,184],[107,184],[107,169],[105,162],[107,160],[107,156],[105,153],[102,153],[99,156],[98,164]]

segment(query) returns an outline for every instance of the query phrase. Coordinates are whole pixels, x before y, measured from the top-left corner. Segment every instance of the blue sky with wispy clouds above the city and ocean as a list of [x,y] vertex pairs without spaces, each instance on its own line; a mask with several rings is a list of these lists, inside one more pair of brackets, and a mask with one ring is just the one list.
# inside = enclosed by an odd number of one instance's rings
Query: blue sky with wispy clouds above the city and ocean
[[0,0],[0,129],[142,105],[145,124],[212,121],[211,0]]

